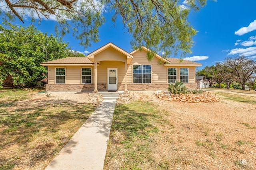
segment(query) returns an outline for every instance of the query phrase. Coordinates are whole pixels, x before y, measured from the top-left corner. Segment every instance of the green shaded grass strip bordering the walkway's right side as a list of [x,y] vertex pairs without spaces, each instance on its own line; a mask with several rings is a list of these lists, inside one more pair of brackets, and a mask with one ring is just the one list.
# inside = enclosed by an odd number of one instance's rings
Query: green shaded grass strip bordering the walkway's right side
[[[137,101],[116,106],[109,142],[110,148],[112,145],[116,147],[107,152],[105,166],[111,166],[108,164],[112,160],[122,157],[120,170],[170,169],[169,161],[158,162],[151,155],[155,137],[164,134],[157,124],[174,128],[161,114],[166,114],[166,111],[158,109],[152,102]],[[120,137],[115,139],[117,134]]]

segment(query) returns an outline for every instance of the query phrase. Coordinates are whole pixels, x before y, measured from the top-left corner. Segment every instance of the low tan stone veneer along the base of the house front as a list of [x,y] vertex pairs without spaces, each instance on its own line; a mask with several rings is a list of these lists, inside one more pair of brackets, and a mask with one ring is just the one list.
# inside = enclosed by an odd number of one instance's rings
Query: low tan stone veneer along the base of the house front
[[[197,88],[196,83],[186,83],[188,89]],[[50,88],[50,89],[49,89]],[[127,84],[128,90],[167,90],[168,84]],[[93,91],[94,84],[46,84],[49,91]],[[98,84],[98,90],[106,90],[106,84]],[[124,90],[124,84],[118,83],[118,90]]]

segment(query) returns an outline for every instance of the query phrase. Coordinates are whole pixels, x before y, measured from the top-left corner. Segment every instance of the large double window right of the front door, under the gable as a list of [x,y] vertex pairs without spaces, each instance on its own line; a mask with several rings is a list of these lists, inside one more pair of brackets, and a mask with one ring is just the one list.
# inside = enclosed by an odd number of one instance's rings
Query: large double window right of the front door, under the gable
[[133,83],[151,83],[151,65],[133,65]]

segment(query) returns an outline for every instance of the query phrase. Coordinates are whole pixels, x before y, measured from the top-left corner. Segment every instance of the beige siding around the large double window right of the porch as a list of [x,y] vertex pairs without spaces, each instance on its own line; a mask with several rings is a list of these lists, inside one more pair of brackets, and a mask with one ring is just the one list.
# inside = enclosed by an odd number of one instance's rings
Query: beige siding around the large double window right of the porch
[[153,61],[148,61],[146,55],[147,52],[144,50],[137,51],[133,54],[134,58],[132,59],[132,63],[128,66],[127,83],[133,83],[133,65],[142,64],[151,65],[151,84],[166,84],[166,67],[164,67],[163,64],[159,65],[159,59],[157,59],[156,57],[154,57]]

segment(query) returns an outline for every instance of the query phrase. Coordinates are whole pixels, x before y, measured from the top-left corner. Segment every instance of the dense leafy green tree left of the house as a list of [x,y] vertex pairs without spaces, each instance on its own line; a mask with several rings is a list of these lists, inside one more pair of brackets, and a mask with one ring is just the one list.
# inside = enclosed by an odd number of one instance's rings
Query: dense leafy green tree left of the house
[[34,86],[46,78],[47,69],[40,63],[67,57],[68,44],[61,38],[47,36],[34,26],[8,26],[0,25],[0,88],[7,76],[14,85]]

